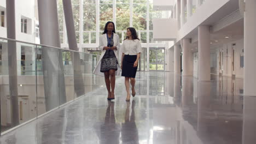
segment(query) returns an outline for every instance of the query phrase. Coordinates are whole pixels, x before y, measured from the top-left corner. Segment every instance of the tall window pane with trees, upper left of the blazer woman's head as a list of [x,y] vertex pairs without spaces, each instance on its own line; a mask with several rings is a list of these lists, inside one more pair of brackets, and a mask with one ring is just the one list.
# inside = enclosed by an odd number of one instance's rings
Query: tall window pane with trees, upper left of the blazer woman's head
[[84,31],[96,31],[96,5],[84,4]]

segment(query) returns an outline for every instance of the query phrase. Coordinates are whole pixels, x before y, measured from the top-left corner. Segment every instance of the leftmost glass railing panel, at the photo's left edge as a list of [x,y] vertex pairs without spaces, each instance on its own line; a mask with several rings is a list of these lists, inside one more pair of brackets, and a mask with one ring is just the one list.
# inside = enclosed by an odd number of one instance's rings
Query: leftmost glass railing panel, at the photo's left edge
[[[0,64],[1,133],[27,122],[37,116],[35,46],[1,40],[2,62]],[[23,58],[26,76],[21,75],[21,45],[26,45]],[[8,52],[13,61],[8,61]],[[18,59],[18,61],[16,60]],[[8,67],[8,65],[12,65]]]

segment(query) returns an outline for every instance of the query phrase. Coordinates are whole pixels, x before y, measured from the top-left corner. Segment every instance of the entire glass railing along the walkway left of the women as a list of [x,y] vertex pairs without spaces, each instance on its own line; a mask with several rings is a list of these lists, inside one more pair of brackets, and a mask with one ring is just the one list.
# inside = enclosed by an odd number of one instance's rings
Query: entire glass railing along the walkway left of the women
[[5,38],[0,44],[1,134],[104,85],[92,74],[98,55]]

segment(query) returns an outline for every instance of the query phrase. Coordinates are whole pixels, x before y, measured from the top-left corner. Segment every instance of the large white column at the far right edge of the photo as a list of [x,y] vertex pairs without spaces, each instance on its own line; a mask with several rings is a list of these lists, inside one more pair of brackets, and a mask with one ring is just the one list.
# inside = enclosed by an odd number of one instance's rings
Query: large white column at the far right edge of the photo
[[246,0],[245,9],[245,70],[244,70],[244,95],[256,96],[256,1]]

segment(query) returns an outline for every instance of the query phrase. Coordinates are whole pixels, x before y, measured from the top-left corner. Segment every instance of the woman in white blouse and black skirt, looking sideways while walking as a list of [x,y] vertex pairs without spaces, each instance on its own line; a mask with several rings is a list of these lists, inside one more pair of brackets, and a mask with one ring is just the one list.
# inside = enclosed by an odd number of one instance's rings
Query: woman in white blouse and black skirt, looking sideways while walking
[[[125,87],[127,92],[126,101],[130,101],[130,83],[132,97],[135,97],[135,76],[138,68],[138,60],[141,56],[141,43],[137,37],[135,28],[129,27],[126,32],[126,39],[122,45],[121,69],[122,76],[125,77]],[[130,81],[130,82],[129,82]]]

